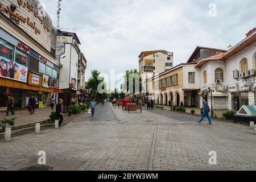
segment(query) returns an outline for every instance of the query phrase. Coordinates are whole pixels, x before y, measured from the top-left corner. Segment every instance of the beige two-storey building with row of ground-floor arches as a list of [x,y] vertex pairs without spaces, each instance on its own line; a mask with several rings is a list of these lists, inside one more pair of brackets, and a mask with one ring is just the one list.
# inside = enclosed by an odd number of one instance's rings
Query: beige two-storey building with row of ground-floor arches
[[174,106],[195,106],[200,102],[200,69],[196,63],[184,63],[160,73],[152,78],[152,88],[155,93],[155,104],[168,105],[171,101]]

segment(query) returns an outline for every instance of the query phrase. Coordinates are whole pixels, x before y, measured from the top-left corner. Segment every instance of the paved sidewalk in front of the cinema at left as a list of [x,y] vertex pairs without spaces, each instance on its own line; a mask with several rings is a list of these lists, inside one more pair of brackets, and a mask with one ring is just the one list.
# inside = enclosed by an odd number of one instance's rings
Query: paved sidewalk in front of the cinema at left
[[[55,111],[55,107],[53,109]],[[28,125],[31,123],[42,122],[49,119],[49,115],[52,110],[50,107],[43,109],[36,109],[35,114],[30,115],[27,109],[14,110],[15,115],[9,113],[9,117],[6,117],[6,111],[0,111],[0,120],[5,118],[16,118],[15,126]],[[68,118],[68,115],[64,115],[64,119]]]

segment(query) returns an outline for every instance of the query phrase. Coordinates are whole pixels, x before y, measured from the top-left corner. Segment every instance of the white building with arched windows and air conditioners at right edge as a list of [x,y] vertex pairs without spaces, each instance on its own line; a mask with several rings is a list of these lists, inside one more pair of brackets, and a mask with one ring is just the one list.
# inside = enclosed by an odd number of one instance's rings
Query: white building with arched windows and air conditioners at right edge
[[255,105],[256,28],[220,60],[226,63],[228,109],[239,110],[243,105]]

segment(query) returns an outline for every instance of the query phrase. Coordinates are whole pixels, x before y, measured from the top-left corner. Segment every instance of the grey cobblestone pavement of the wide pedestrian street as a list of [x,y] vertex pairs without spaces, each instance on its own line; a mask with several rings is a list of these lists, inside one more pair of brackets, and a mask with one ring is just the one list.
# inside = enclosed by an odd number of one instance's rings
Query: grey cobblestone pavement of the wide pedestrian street
[[[256,170],[256,135],[250,127],[170,111],[123,111],[106,104],[59,130],[0,142],[0,169],[46,151],[47,158],[82,161],[78,170]],[[208,155],[217,152],[217,165]]]

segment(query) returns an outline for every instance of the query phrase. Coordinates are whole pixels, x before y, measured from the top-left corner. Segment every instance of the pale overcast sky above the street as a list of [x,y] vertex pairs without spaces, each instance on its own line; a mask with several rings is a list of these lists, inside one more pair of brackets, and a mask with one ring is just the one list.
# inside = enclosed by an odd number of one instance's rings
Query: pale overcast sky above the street
[[[57,0],[39,1],[56,26]],[[234,46],[256,27],[255,10],[255,0],[62,0],[60,26],[77,28],[88,80],[92,69],[138,69],[142,51],[174,52],[177,65],[187,62],[196,46]]]

